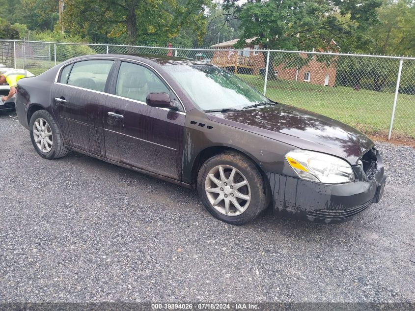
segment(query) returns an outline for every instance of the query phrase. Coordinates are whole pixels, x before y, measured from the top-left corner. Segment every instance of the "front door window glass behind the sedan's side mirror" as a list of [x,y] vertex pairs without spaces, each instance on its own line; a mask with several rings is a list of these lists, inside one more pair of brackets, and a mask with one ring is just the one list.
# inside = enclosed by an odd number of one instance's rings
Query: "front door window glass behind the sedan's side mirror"
[[118,72],[115,95],[138,100],[145,103],[148,93],[163,92],[170,95],[170,90],[150,69],[122,62]]

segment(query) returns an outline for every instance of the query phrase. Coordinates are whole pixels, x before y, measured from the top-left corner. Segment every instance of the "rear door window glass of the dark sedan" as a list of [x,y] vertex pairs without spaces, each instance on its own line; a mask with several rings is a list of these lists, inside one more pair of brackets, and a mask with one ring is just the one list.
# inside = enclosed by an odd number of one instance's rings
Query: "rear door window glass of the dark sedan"
[[103,92],[112,63],[112,60],[85,60],[76,62],[69,75],[68,85]]

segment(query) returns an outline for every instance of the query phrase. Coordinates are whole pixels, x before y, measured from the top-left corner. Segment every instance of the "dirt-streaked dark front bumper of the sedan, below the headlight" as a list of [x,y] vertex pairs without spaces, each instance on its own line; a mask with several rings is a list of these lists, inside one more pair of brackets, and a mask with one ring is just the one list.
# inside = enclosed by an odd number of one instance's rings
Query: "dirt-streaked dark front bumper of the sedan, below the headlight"
[[376,150],[377,168],[369,177],[353,166],[356,179],[345,184],[321,184],[277,173],[266,173],[276,212],[315,223],[336,224],[352,220],[382,198],[386,176]]

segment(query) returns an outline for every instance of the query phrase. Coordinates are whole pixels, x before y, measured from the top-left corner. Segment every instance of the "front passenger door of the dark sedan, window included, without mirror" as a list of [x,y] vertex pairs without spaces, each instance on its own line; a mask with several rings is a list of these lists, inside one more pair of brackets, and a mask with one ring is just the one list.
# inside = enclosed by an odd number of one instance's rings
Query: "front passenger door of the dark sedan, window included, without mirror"
[[145,98],[151,92],[168,93],[183,111],[174,93],[150,68],[121,62],[107,104],[108,112],[120,114],[119,123],[105,115],[107,157],[180,180],[185,115],[147,106]]

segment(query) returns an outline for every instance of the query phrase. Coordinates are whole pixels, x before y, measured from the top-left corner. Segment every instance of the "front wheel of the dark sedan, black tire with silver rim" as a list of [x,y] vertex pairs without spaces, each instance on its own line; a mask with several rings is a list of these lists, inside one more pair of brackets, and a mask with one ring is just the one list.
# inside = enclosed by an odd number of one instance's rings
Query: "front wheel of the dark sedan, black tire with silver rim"
[[197,175],[197,192],[214,217],[232,225],[254,220],[270,202],[264,179],[255,164],[233,151],[215,155],[203,163]]

